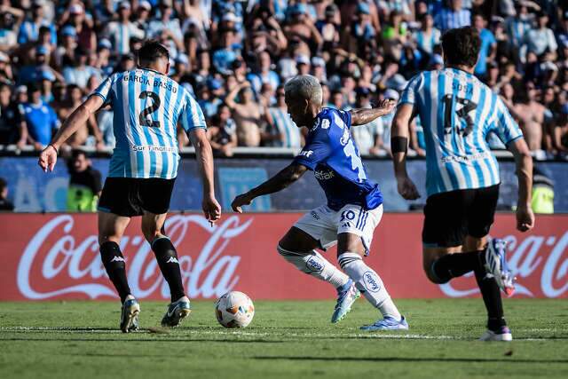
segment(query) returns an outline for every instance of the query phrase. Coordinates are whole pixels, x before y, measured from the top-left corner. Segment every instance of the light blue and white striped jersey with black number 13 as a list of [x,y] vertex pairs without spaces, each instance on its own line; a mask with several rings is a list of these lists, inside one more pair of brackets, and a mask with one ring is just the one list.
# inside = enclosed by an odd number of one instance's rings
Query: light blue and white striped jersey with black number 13
[[508,145],[523,133],[489,87],[455,68],[414,76],[400,104],[414,105],[426,140],[428,195],[500,183],[499,166],[486,141],[490,132]]

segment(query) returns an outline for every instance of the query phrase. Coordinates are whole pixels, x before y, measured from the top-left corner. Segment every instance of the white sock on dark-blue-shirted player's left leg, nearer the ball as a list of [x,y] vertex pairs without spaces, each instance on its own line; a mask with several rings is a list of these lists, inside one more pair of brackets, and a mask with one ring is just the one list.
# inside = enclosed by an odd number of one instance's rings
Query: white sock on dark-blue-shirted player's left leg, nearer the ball
[[298,270],[319,280],[325,280],[335,288],[341,287],[349,281],[347,275],[315,250],[300,253],[283,249],[280,245],[278,245],[277,249],[280,256],[284,257],[292,265],[295,265]]

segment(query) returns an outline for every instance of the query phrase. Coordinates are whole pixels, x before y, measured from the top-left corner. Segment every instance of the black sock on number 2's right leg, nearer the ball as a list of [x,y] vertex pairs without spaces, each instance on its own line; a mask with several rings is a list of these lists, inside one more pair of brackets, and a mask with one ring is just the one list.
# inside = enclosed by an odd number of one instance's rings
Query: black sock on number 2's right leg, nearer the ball
[[152,243],[152,249],[160,266],[160,271],[170,285],[172,303],[185,296],[184,284],[181,281],[181,272],[177,262],[177,251],[169,238],[159,238]]

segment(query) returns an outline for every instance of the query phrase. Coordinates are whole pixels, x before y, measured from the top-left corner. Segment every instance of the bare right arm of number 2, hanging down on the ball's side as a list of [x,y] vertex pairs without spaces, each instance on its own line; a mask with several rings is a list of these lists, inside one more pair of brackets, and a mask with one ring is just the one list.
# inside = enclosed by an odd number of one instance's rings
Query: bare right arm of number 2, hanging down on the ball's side
[[207,132],[201,128],[194,128],[187,133],[195,147],[197,167],[201,173],[203,183],[203,201],[201,208],[203,214],[211,222],[215,223],[221,218],[221,206],[215,198],[215,186],[213,179],[213,151],[207,138]]

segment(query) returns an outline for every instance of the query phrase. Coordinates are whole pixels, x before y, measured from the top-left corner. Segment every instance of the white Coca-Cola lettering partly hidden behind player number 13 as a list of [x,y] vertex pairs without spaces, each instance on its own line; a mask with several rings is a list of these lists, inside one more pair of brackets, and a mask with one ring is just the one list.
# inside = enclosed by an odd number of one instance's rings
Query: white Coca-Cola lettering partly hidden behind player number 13
[[[527,235],[517,239],[514,235],[504,238],[507,241],[507,263],[509,270],[517,277],[516,295],[560,297],[568,291],[568,232],[559,238],[555,235]],[[529,278],[540,273],[540,288],[530,288]],[[472,272],[465,275],[473,276]],[[535,282],[535,280],[532,280]],[[468,282],[469,288],[456,288],[454,282],[440,285],[447,296],[463,297],[479,292],[475,281]]]

